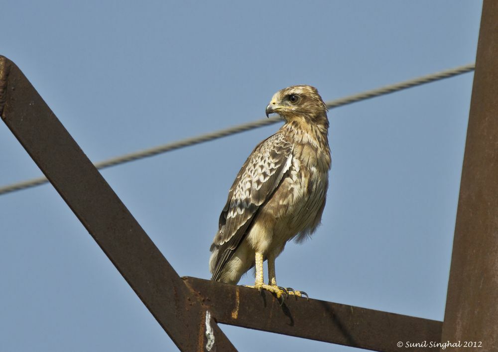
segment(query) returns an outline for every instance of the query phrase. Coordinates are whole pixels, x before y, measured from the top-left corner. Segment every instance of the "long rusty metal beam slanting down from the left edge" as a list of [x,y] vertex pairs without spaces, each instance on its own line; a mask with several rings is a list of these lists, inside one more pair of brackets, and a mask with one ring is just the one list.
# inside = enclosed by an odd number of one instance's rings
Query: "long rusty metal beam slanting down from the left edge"
[[[2,120],[182,351],[204,351],[206,308],[17,66],[0,56]],[[236,351],[210,320],[218,351]]]

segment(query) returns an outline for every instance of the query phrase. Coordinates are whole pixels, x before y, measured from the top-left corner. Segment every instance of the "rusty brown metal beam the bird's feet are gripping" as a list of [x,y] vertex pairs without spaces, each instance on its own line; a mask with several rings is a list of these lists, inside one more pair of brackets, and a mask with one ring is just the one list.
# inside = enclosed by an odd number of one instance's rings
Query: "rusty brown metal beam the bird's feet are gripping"
[[[183,279],[222,324],[374,351],[420,351],[404,344],[441,339],[442,323],[435,320],[305,298],[289,298],[280,306],[273,295],[252,288]],[[402,349],[396,346],[400,341]]]

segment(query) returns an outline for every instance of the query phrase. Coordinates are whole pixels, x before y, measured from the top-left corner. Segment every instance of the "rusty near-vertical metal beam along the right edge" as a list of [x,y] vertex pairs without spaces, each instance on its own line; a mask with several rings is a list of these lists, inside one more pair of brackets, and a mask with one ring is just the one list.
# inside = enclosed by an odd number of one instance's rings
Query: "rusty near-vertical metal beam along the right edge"
[[498,1],[483,3],[443,343],[498,351]]

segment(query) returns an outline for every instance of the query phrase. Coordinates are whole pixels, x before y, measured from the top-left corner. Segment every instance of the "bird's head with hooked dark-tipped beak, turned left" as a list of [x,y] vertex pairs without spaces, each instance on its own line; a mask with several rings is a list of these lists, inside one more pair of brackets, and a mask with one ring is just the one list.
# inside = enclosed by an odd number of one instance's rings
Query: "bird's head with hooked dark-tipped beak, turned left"
[[318,123],[328,127],[327,106],[311,86],[291,86],[273,95],[266,107],[266,116],[277,113],[287,122]]

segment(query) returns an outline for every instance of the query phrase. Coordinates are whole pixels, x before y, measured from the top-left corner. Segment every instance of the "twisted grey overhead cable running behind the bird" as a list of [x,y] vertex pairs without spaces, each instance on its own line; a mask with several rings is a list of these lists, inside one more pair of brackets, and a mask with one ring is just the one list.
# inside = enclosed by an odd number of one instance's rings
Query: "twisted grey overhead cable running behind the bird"
[[[430,82],[442,80],[444,78],[454,77],[454,76],[461,75],[461,74],[466,73],[466,72],[473,71],[474,69],[475,69],[475,64],[459,66],[459,67],[455,67],[455,68],[450,69],[450,70],[436,72],[436,73],[426,75],[426,76],[421,76],[421,77],[418,77],[418,78],[415,78],[412,80],[395,83],[395,84],[392,84],[389,86],[380,87],[377,89],[373,89],[370,91],[362,92],[359,94],[355,94],[352,96],[348,96],[348,97],[344,97],[344,98],[340,98],[340,99],[336,99],[336,100],[331,100],[331,101],[326,102],[325,104],[327,105],[327,107],[329,109],[337,108],[337,107],[340,107],[343,105],[356,103],[356,102],[359,102],[362,100],[378,97],[381,95],[398,92],[398,91],[401,91],[403,89],[407,89],[407,88],[411,88],[411,87],[415,87],[415,86],[420,86],[420,85],[425,84],[425,83],[430,83]],[[138,159],[143,159],[143,158],[146,158],[149,156],[165,153],[167,151],[171,151],[171,150],[175,150],[175,149],[180,149],[180,148],[183,148],[186,146],[204,143],[204,142],[207,142],[207,141],[210,141],[213,139],[225,137],[225,136],[232,135],[235,133],[241,133],[244,131],[248,131],[250,129],[266,126],[266,125],[273,124],[273,123],[276,123],[279,121],[281,121],[281,119],[279,117],[270,117],[270,118],[259,119],[256,121],[240,124],[237,126],[226,128],[226,129],[221,129],[221,130],[218,130],[215,132],[202,134],[200,136],[186,138],[186,139],[182,139],[182,140],[179,140],[176,142],[158,145],[158,146],[153,147],[153,148],[139,150],[139,151],[129,153],[129,154],[124,154],[122,156],[118,156],[118,157],[115,157],[112,159],[108,159],[108,160],[104,160],[104,161],[95,163],[94,165],[98,169],[104,169],[106,167],[124,164],[126,162],[130,162],[130,161],[134,161],[134,160],[138,160]],[[42,184],[47,183],[47,182],[48,182],[48,180],[45,177],[38,177],[38,178],[31,179],[31,180],[23,181],[23,182],[13,183],[10,185],[0,187],[0,195],[14,192],[14,191],[19,191],[22,189],[26,189],[26,188],[30,188],[30,187],[34,187],[34,186],[38,186],[38,185],[42,185]]]

